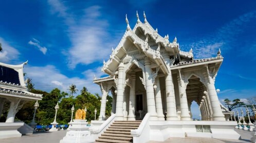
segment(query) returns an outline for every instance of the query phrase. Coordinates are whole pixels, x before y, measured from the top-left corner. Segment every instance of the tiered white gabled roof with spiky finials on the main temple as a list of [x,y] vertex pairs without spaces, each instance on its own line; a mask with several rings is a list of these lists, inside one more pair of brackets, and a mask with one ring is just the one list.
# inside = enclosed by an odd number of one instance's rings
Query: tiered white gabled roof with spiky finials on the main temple
[[[145,13],[143,13],[143,17],[144,22],[141,22],[137,13],[136,25],[131,29],[127,15],[125,16],[126,31],[116,48],[112,49],[109,59],[106,62],[103,61],[102,71],[104,73],[114,76],[121,62],[129,62],[134,57],[138,61],[144,57],[149,57],[160,67],[163,74],[169,72],[168,68],[177,69],[183,68],[185,65],[194,66],[223,61],[223,57],[220,54],[214,58],[194,59],[192,49],[188,52],[181,51],[176,37],[170,42],[169,35],[162,37],[158,34],[158,29],[154,29],[150,25]],[[164,54],[174,57],[175,61],[167,65],[163,59]],[[105,78],[94,79],[94,81],[104,80]],[[111,77],[107,79],[111,79]]]

